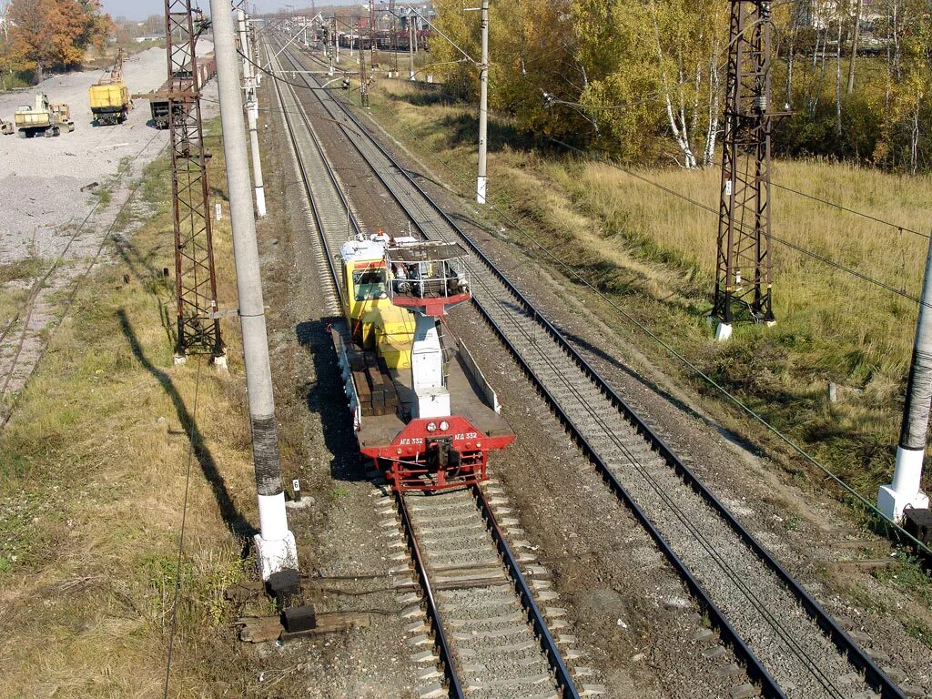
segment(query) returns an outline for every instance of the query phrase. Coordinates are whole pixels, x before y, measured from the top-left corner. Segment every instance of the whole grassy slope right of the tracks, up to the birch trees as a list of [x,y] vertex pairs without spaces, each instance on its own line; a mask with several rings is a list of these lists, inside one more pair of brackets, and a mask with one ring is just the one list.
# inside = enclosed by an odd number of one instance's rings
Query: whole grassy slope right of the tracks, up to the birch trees
[[[472,190],[472,109],[426,86],[400,81],[381,81],[372,99],[374,116],[433,171],[460,192]],[[492,120],[493,203],[865,497],[874,498],[892,469],[916,304],[774,244],[776,326],[741,325],[731,342],[717,344],[706,324],[714,289],[716,216],[624,171],[541,153],[525,148],[526,142],[507,123]],[[639,172],[718,206],[718,168]],[[919,230],[932,213],[925,196],[927,176],[779,161],[774,182]],[[774,190],[773,218],[774,235],[919,294],[924,238],[780,190]],[[506,227],[501,235],[528,247],[526,238]],[[580,294],[586,295],[582,289]],[[691,381],[706,397],[718,395],[617,312],[589,301],[672,376]],[[839,387],[834,403],[829,402],[829,382]],[[718,398],[706,404],[726,426],[775,444]],[[801,478],[805,473],[798,462],[787,460],[786,466]]]

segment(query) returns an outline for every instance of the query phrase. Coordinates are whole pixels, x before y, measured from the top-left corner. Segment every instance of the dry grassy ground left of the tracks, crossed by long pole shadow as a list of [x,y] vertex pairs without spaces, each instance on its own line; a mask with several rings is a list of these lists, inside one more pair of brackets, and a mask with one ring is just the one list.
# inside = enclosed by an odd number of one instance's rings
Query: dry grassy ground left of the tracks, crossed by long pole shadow
[[[222,190],[223,151],[212,152]],[[75,296],[0,432],[4,696],[161,696],[189,434],[172,692],[182,677],[184,696],[239,692],[247,677],[223,596],[249,565],[241,537],[256,520],[239,328],[225,323],[232,378],[195,359],[173,366],[173,282],[161,277],[170,182],[165,158],[146,169],[116,228],[127,234],[108,241],[110,261]],[[228,221],[215,230],[228,308]]]

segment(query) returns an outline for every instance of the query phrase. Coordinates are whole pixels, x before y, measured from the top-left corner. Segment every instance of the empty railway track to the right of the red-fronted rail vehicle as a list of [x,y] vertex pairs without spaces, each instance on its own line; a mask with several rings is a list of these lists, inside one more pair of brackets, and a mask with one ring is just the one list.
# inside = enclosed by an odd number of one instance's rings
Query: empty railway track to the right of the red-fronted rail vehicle
[[[283,60],[303,70],[286,50]],[[295,74],[296,75],[296,74]],[[349,108],[299,78],[392,198],[432,240],[477,258],[473,300],[618,497],[678,569],[713,624],[774,697],[903,697],[552,322],[496,267]]]

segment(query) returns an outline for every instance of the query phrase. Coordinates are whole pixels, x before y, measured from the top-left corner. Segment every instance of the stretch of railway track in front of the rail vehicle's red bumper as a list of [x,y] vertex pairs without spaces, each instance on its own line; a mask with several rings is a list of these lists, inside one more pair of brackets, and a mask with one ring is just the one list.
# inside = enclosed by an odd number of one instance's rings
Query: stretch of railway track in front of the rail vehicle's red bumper
[[398,495],[396,502],[434,638],[452,661],[446,664],[450,694],[578,697],[545,611],[482,488]]

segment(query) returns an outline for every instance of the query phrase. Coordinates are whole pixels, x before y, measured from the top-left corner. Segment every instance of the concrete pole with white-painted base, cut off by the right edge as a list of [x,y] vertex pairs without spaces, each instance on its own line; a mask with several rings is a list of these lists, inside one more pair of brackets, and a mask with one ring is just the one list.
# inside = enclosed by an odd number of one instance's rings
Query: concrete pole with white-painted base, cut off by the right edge
[[925,442],[932,408],[932,242],[925,258],[925,281],[916,337],[912,348],[910,381],[906,388],[906,405],[899,430],[897,465],[893,483],[881,486],[877,493],[877,508],[897,524],[907,507],[924,509],[929,499],[921,490]]

